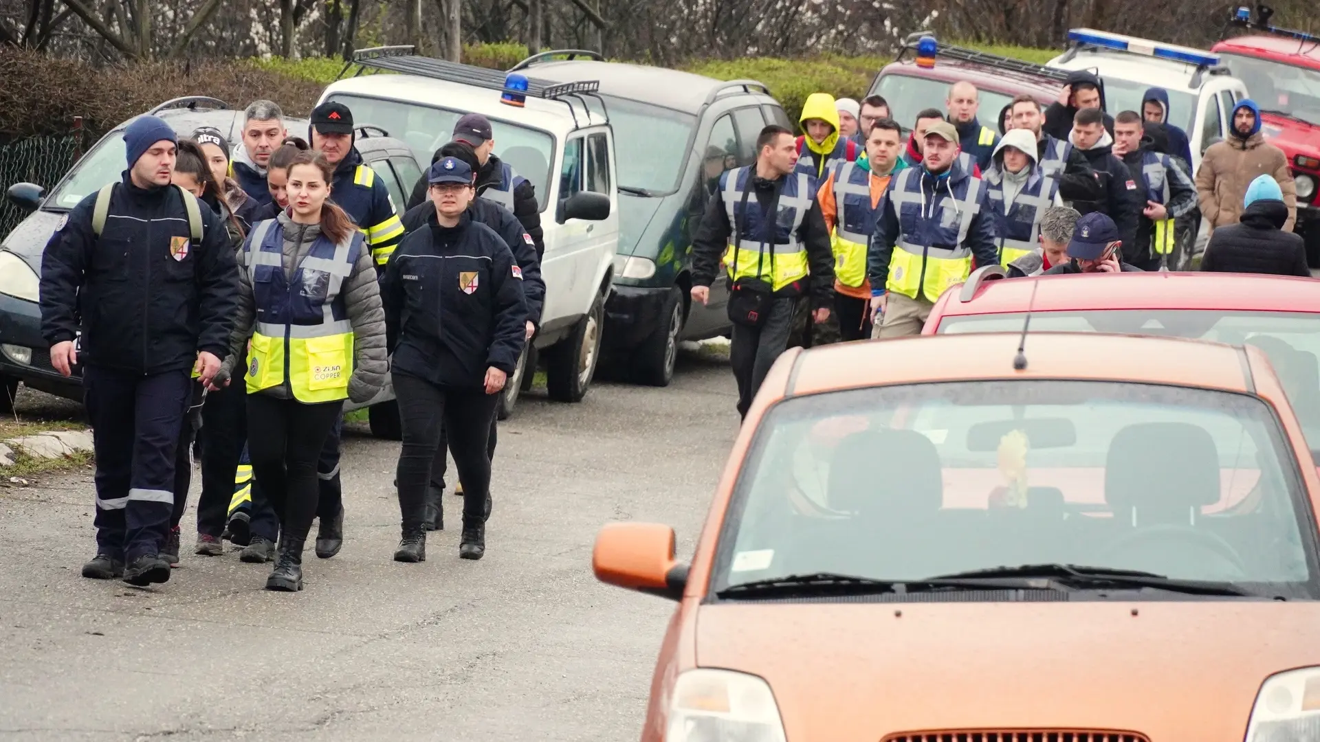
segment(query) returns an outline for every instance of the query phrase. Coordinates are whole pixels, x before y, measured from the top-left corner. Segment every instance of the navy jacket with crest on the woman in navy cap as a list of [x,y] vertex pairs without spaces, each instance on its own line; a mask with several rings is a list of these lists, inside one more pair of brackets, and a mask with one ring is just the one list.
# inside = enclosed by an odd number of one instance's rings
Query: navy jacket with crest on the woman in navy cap
[[512,374],[527,337],[523,271],[504,240],[465,213],[399,244],[380,279],[395,341],[391,371],[432,384],[483,387],[486,368]]

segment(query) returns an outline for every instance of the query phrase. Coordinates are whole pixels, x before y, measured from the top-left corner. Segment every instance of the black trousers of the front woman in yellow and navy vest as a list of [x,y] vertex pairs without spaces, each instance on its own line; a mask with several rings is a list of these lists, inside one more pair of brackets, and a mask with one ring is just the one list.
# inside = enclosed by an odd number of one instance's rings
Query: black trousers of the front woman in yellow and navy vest
[[284,533],[306,539],[317,516],[317,459],[343,401],[304,404],[248,395],[248,454],[252,477],[280,519]]

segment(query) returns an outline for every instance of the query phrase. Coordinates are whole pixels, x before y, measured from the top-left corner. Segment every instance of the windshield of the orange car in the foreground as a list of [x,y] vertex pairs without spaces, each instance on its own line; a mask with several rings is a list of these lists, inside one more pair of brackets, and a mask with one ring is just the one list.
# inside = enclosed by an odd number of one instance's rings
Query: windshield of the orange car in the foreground
[[1309,500],[1249,395],[966,382],[789,399],[762,422],[714,590],[1074,564],[1311,597]]

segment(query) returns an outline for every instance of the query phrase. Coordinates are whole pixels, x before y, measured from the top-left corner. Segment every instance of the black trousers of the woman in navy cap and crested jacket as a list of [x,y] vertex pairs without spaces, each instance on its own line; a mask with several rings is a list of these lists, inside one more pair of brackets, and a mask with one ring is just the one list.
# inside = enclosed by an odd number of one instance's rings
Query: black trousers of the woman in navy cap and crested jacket
[[486,515],[491,485],[491,459],[486,453],[499,395],[484,389],[441,387],[416,376],[393,372],[404,445],[399,452],[399,510],[405,531],[421,528],[426,483],[440,448],[441,429],[447,430],[458,479],[463,483],[463,520]]

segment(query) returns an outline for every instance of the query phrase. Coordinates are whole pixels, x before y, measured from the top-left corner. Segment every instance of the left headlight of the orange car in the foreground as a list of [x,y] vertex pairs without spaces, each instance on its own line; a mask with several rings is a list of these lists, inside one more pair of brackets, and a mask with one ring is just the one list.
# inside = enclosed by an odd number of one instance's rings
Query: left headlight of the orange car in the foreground
[[784,722],[767,684],[729,669],[689,669],[669,700],[665,742],[784,742]]

